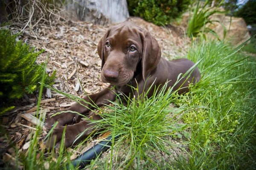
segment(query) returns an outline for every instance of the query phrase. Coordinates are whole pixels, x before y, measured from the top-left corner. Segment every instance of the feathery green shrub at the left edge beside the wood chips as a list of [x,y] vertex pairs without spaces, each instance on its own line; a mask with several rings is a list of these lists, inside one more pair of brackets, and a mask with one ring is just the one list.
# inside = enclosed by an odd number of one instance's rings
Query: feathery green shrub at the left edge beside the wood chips
[[[35,61],[44,50],[35,52],[26,43],[15,41],[18,34],[11,35],[10,30],[0,30],[0,100],[20,98],[32,94],[40,86],[44,69]],[[53,84],[55,72],[45,75],[45,83]]]

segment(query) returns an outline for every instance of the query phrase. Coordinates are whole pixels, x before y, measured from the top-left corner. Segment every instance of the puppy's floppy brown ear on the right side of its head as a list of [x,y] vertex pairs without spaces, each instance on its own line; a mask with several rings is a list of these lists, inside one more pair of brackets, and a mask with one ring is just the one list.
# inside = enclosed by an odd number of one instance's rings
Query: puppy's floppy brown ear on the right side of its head
[[144,30],[140,36],[143,42],[142,76],[143,80],[146,81],[148,73],[156,68],[161,59],[161,49],[157,40],[148,31]]

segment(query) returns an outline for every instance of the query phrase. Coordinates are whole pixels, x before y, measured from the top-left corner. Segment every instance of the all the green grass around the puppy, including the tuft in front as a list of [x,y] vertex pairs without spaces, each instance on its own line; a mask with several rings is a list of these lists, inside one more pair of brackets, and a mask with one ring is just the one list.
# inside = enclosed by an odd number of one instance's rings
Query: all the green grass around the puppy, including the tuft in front
[[[112,135],[121,138],[112,145],[104,161],[94,160],[88,167],[98,169],[253,169],[256,167],[256,62],[223,42],[193,42],[187,58],[198,62],[201,81],[191,91],[176,95],[171,89],[151,98],[117,100],[108,110],[98,108]],[[152,87],[154,88],[154,87]],[[166,88],[166,87],[164,87]],[[80,99],[61,92],[73,100]],[[119,99],[120,96],[117,96]],[[174,103],[178,107],[169,107]],[[64,114],[64,113],[63,113]],[[183,140],[179,138],[183,136]],[[175,138],[180,144],[174,144]],[[35,138],[33,138],[35,139]],[[32,139],[32,140],[33,140]],[[60,169],[72,153],[61,150],[57,163],[54,152],[33,141],[23,158],[25,169]],[[185,149],[189,147],[187,152]],[[172,148],[183,154],[174,161],[159,162],[154,155],[172,155]],[[124,152],[124,158],[116,152]],[[39,161],[35,154],[40,153]],[[56,156],[55,156],[56,157]],[[47,163],[46,163],[47,162]],[[117,162],[117,163],[116,163]],[[143,164],[140,164],[143,162]]]

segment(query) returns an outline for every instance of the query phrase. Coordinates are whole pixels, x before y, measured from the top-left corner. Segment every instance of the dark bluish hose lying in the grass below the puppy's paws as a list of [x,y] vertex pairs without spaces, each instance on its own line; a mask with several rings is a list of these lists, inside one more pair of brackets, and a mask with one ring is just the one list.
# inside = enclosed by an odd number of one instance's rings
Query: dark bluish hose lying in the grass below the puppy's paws
[[[119,138],[119,135],[115,136],[114,140]],[[71,164],[73,167],[79,167],[83,168],[88,163],[90,163],[91,160],[102,154],[102,152],[106,151],[108,148],[112,146],[112,136],[109,136],[106,140],[100,141],[95,146],[91,147],[89,150],[82,153],[79,157],[75,158],[73,161],[71,161]],[[69,166],[66,165],[66,169],[69,169]]]

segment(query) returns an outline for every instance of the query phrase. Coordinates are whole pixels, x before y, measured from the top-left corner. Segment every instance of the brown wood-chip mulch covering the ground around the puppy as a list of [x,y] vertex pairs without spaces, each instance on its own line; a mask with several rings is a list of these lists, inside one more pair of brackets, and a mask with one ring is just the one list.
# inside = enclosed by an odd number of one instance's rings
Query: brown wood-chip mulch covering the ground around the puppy
[[[162,50],[162,57],[172,59],[186,55],[187,46],[185,44],[190,43],[190,40],[184,38],[183,30],[179,27],[173,25],[166,28],[155,26],[138,17],[130,17],[128,20],[143,29],[147,29],[157,39]],[[108,26],[93,25],[92,23],[69,22],[55,27],[40,26],[34,32],[24,32],[20,39],[30,46],[35,46],[36,50],[45,49],[45,52],[38,57],[37,62],[45,62],[47,55],[49,55],[47,72],[51,75],[53,70],[57,70],[53,87],[81,97],[84,94],[78,77],[88,94],[99,92],[108,86],[101,81],[101,60],[97,53],[98,42],[107,29]],[[15,32],[15,29],[12,30]],[[34,124],[37,123],[33,116],[35,115],[37,96],[28,96],[23,100],[17,103],[18,107],[9,112],[9,115],[5,114],[0,118],[0,121],[3,122],[1,128],[8,131],[9,140],[17,146],[19,152],[27,151],[31,130],[35,129]],[[70,99],[47,89],[41,101],[41,112],[46,113],[47,117],[71,105]],[[46,133],[44,130],[43,134]],[[175,140],[173,142],[178,143]],[[4,161],[12,160],[12,156],[15,157],[16,154],[13,148],[8,148],[8,143],[6,136],[0,137],[0,159]],[[81,147],[80,151],[84,152],[94,144],[95,142],[91,142],[89,146]],[[177,148],[172,152],[174,155],[181,153]],[[104,153],[103,157],[108,156],[108,154],[109,152]],[[162,157],[166,157],[164,159],[167,161],[173,159],[170,156],[162,155]]]

